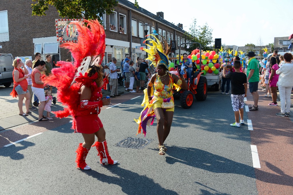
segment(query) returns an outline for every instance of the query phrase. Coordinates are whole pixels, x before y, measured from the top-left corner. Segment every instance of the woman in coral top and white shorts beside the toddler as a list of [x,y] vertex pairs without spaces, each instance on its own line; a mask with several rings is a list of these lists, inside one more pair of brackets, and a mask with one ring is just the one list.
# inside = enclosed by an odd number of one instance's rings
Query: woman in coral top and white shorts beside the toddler
[[44,92],[44,83],[41,81],[41,72],[47,70],[45,68],[45,61],[36,61],[34,65],[34,69],[31,75],[32,78],[32,91],[33,93],[38,97],[40,101],[39,105],[39,121],[48,120],[46,116],[43,115],[44,108],[46,105],[46,98],[45,98],[45,92]]

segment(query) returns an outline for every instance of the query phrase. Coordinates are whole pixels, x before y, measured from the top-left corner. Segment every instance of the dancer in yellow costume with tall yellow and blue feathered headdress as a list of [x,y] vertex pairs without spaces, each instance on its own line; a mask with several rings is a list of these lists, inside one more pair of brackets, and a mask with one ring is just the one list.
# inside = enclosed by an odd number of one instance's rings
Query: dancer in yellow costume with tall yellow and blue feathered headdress
[[[149,35],[148,35],[149,36]],[[155,37],[150,34],[150,36]],[[152,125],[154,118],[157,118],[157,134],[159,139],[159,154],[165,155],[167,148],[164,146],[164,141],[168,137],[174,114],[174,99],[173,99],[173,85],[176,89],[180,90],[180,87],[187,89],[187,83],[185,79],[168,72],[168,54],[171,48],[168,46],[167,41],[162,38],[162,42],[156,37],[156,41],[153,39],[146,39],[153,45],[148,45],[147,51],[149,60],[152,61],[157,67],[157,73],[151,77],[147,89],[144,89],[144,100],[142,106],[145,107],[141,112],[138,120],[135,120],[139,124],[138,132],[143,130],[144,136],[146,135],[146,126]],[[163,46],[164,44],[164,46]],[[170,44],[172,45],[172,43]]]

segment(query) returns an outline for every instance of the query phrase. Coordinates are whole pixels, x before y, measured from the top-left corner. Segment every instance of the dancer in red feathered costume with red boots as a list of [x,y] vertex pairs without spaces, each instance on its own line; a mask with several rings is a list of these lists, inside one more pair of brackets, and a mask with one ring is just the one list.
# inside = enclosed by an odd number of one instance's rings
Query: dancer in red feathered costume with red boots
[[[108,83],[106,78],[103,80],[103,68],[100,65],[105,53],[105,31],[98,20],[85,22],[88,27],[76,23],[76,29],[83,34],[77,44],[70,42],[61,45],[70,49],[75,60],[74,66],[71,62],[59,61],[57,66],[60,68],[54,68],[52,75],[42,80],[58,88],[58,100],[67,106],[63,111],[54,112],[56,116],[62,118],[72,115],[72,129],[84,137],[84,143],[80,143],[76,150],[76,163],[77,168],[88,170],[91,168],[85,160],[94,146],[103,165],[113,165],[118,161],[113,161],[109,155],[105,129],[98,117],[100,108],[111,102],[111,99],[103,99],[101,92]],[[94,144],[95,136],[98,141]]]

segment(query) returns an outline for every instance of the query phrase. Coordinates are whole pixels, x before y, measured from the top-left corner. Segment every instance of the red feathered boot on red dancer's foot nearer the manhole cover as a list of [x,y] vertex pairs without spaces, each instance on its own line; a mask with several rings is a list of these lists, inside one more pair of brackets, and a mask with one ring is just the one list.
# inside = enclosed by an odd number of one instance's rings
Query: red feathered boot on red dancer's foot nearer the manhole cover
[[112,158],[110,157],[106,140],[103,142],[96,141],[96,143],[93,146],[96,146],[97,148],[98,156],[100,156],[101,164],[105,165],[105,163],[107,163],[109,165],[115,165],[118,163],[118,161],[113,161]]

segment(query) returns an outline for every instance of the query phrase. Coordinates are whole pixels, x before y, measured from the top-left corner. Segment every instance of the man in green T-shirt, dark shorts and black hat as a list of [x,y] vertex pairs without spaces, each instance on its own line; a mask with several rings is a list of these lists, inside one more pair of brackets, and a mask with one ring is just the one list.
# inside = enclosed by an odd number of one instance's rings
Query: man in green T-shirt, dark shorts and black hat
[[259,82],[259,62],[255,59],[255,54],[253,51],[249,51],[248,54],[248,64],[247,64],[247,83],[249,82],[249,91],[253,97],[253,106],[249,107],[250,111],[258,110],[258,82]]

